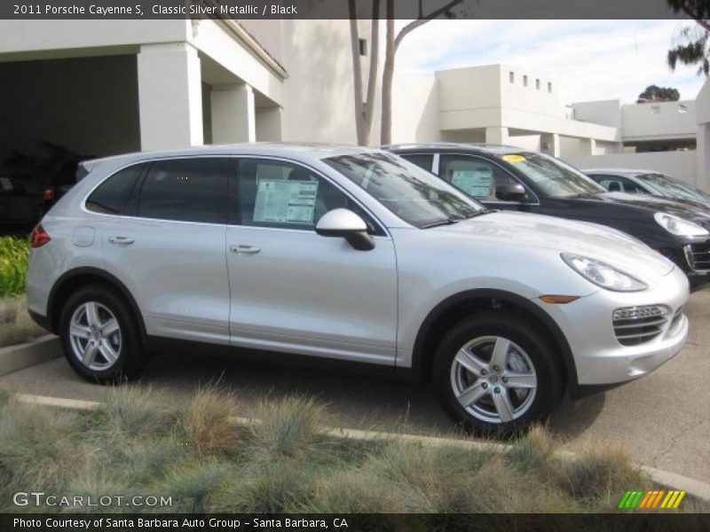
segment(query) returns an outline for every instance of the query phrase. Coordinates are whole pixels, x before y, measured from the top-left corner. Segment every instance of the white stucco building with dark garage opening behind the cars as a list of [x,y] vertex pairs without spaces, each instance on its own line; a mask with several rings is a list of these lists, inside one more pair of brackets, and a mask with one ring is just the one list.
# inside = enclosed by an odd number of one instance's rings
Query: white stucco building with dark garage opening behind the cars
[[[359,28],[366,74],[369,24]],[[519,145],[710,188],[707,85],[697,101],[564,106],[559,83],[507,65],[396,72],[392,140]],[[41,140],[96,156],[356,142],[348,20],[0,20],[0,86],[0,160]],[[378,116],[379,100],[373,145]]]

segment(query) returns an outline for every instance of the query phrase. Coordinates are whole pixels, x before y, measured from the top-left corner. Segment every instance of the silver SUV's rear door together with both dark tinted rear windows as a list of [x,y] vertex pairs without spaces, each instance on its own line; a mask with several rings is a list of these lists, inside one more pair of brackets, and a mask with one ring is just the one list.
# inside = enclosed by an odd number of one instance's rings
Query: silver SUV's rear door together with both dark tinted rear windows
[[[118,172],[87,201],[102,214],[106,270],[138,301],[148,334],[229,343],[227,164],[156,160]],[[130,188],[130,199],[112,204],[112,183],[118,196]]]

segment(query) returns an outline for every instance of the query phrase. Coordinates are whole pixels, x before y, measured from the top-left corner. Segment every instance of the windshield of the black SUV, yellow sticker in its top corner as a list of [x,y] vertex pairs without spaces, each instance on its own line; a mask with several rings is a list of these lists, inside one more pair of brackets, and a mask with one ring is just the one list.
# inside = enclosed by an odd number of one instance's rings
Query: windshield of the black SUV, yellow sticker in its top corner
[[553,198],[606,192],[577,168],[543,153],[508,153],[500,158],[523,172],[540,191]]

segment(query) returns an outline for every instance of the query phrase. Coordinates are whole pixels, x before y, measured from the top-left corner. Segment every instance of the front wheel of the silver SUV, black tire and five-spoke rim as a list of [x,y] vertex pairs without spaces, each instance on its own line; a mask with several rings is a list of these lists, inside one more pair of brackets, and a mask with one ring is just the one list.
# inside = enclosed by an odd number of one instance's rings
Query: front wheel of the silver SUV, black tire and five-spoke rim
[[[533,366],[534,375],[528,375],[526,379],[536,380],[534,393],[531,391],[532,388],[514,389],[509,387],[512,386],[511,384],[503,385],[503,375],[508,375],[506,381],[509,383],[512,379],[511,374],[505,373],[506,369],[501,370],[498,366],[496,366],[498,369],[493,371],[493,364],[481,366],[484,367],[485,377],[477,377],[458,363],[455,363],[455,368],[453,367],[459,350],[472,340],[477,340],[471,346],[479,349],[480,355],[477,356],[481,359],[485,359],[487,354],[492,356],[493,347],[496,345],[494,337],[513,342],[510,344],[511,350],[506,349],[505,352],[512,353],[506,355],[507,361],[511,356],[515,359],[506,362],[506,365],[515,363],[518,368],[525,368],[525,372],[529,371],[529,366]],[[521,350],[524,352],[523,356],[520,355]],[[488,358],[487,362],[490,363],[491,359]],[[513,371],[510,367],[507,370]],[[432,380],[439,400],[455,421],[476,434],[494,436],[517,435],[531,423],[546,419],[556,410],[564,394],[563,371],[555,346],[530,322],[502,310],[466,318],[449,329],[438,344],[432,366]],[[483,395],[476,400],[477,402],[474,401],[464,408],[457,399],[456,393],[461,394],[461,388],[474,393],[474,387],[480,387],[477,388],[476,393]],[[492,419],[497,411],[493,400],[501,399],[501,395],[493,397],[494,391],[497,394],[505,394],[505,397],[509,398],[508,403],[514,406],[511,410],[513,414],[509,417],[513,419],[503,421],[500,415],[498,419]],[[529,398],[531,393],[532,398]],[[524,398],[521,399],[518,394]],[[476,395],[466,395],[467,398],[470,396]],[[461,397],[464,395],[461,394]],[[489,410],[492,413],[490,416]]]

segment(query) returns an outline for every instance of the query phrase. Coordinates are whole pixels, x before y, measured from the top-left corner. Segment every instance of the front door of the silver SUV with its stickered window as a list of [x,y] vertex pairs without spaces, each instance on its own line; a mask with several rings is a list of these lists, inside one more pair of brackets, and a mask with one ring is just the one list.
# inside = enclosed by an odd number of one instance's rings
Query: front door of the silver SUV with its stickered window
[[[310,168],[259,158],[235,167],[226,238],[232,344],[394,364],[397,265],[381,225]],[[375,249],[316,234],[334,208],[363,217]]]

